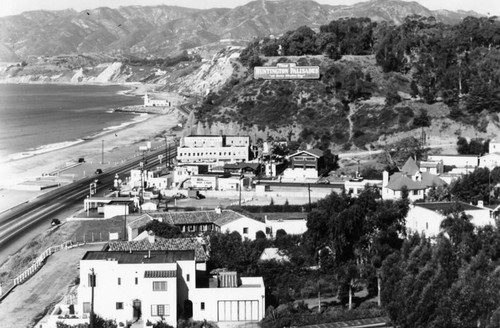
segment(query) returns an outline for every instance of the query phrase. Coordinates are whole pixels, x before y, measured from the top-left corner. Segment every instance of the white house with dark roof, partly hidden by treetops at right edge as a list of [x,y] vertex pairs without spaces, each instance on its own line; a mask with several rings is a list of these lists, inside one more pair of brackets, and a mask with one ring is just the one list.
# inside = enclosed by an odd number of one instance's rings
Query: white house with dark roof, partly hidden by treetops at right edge
[[491,211],[488,208],[463,202],[433,202],[410,205],[406,217],[406,229],[409,233],[436,237],[441,232],[441,222],[446,218],[445,213],[457,205],[465,214],[470,215],[471,222],[475,226],[495,225],[495,220],[491,217]]

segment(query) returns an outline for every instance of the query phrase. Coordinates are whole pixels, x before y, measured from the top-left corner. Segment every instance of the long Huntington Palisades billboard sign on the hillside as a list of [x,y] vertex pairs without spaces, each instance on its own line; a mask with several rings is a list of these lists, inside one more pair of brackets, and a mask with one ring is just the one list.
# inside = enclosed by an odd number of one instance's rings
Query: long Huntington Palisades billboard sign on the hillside
[[319,66],[296,66],[294,63],[279,63],[277,66],[256,66],[253,76],[264,80],[317,80]]

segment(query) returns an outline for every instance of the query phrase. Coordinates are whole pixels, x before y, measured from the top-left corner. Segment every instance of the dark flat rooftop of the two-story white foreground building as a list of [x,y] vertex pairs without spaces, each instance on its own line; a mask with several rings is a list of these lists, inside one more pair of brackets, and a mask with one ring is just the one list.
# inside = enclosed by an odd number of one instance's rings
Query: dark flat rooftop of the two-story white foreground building
[[[151,256],[149,256],[151,255]],[[118,261],[118,264],[138,263],[175,263],[177,261],[194,261],[194,251],[132,251],[132,252],[104,252],[89,251],[85,253],[84,261]]]

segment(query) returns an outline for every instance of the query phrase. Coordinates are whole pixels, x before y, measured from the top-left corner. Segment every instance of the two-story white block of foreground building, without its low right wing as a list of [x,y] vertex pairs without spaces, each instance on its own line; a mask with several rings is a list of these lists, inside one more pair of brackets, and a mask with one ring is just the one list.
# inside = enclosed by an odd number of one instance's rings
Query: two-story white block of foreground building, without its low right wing
[[[192,279],[181,279],[186,272]],[[79,312],[176,326],[177,304],[188,299],[182,285],[194,289],[195,272],[194,251],[89,251],[80,261]]]

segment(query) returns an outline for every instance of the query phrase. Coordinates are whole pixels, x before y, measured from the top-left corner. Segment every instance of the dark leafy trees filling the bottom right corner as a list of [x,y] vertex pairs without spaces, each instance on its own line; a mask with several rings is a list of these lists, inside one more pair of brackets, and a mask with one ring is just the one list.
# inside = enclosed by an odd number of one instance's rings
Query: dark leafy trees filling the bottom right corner
[[418,235],[382,266],[382,301],[399,327],[498,327],[500,233],[464,214],[443,221],[449,237]]

